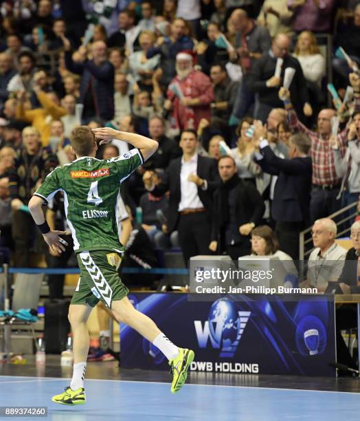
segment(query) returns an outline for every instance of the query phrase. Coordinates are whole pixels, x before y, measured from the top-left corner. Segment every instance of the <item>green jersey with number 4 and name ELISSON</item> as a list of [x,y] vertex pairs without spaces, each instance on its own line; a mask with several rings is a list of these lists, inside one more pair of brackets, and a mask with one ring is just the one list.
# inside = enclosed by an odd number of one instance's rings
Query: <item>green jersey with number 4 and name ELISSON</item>
[[76,252],[122,252],[117,224],[120,184],[142,163],[138,149],[111,160],[83,156],[49,173],[34,195],[49,202],[58,191],[63,191]]

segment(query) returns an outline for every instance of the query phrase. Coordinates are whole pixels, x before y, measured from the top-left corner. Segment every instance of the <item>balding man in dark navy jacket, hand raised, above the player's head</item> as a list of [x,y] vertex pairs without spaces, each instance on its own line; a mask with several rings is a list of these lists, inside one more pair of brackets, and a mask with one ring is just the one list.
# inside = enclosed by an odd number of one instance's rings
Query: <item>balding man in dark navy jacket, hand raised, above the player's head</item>
[[89,122],[93,118],[109,121],[114,115],[114,68],[106,57],[106,44],[96,41],[91,45],[91,59],[83,45],[74,58],[71,57],[69,40],[63,39],[65,62],[70,72],[82,76],[80,100],[84,104],[82,119]]

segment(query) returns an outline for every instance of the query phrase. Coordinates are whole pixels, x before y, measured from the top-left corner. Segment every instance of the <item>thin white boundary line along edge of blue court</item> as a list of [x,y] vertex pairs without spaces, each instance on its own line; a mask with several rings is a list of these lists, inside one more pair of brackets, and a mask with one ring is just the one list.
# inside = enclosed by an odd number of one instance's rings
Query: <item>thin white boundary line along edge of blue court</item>
[[[46,381],[53,381],[53,380],[69,380],[69,377],[34,377],[34,376],[0,376],[0,385],[6,382],[1,382],[1,377],[18,377],[18,378],[37,378]],[[26,382],[27,380],[23,380]],[[35,380],[32,380],[35,381]],[[85,382],[122,382],[122,383],[155,383],[156,385],[170,385],[169,382],[146,382],[144,380],[113,380],[113,379],[105,379],[105,378],[85,378]],[[22,381],[19,380],[19,383]],[[186,386],[205,386],[205,387],[234,387],[236,389],[264,389],[264,390],[289,390],[289,391],[302,391],[302,392],[316,392],[316,393],[341,393],[341,394],[348,394],[348,395],[359,395],[360,392],[344,392],[344,391],[337,391],[337,390],[316,390],[316,389],[289,389],[287,387],[260,387],[260,386],[234,386],[234,385],[204,385],[203,383],[194,384],[194,383],[186,383]]]

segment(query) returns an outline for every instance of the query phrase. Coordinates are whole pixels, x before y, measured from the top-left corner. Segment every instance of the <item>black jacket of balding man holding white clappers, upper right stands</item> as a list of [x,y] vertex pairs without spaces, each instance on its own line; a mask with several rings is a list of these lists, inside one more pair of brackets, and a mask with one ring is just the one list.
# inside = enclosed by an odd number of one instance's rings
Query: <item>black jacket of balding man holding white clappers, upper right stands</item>
[[[275,73],[277,58],[271,54],[264,54],[251,67],[251,72],[247,74],[245,83],[249,89],[259,95],[260,102],[271,105],[274,108],[283,108],[284,104],[278,96],[280,87],[267,87],[266,83]],[[284,57],[282,64],[281,80],[284,81],[284,72],[286,67],[293,67],[295,75],[290,85],[291,102],[296,104],[296,111],[301,115],[304,103],[308,102],[308,90],[306,87],[306,80],[302,73],[302,68],[299,61],[289,54]]]

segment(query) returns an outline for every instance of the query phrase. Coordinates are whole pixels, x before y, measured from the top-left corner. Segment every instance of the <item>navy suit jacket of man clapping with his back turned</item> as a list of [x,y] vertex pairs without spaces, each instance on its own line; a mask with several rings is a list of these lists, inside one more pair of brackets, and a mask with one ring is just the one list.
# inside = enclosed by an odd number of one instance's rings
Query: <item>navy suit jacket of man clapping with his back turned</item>
[[262,171],[278,175],[271,206],[273,219],[310,224],[311,158],[278,158],[269,146],[261,149],[260,153],[264,158],[256,162]]

